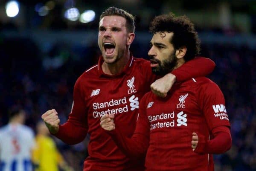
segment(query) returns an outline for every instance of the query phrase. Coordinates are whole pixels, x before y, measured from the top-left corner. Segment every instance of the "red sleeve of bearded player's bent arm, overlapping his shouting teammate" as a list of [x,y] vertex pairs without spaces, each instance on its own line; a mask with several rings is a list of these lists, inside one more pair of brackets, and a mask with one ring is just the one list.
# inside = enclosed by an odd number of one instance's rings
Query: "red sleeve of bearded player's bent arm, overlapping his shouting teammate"
[[119,149],[131,159],[145,157],[149,145],[150,125],[146,116],[145,96],[140,101],[138,115],[136,129],[131,138],[123,136],[118,129],[122,125],[116,123],[116,129],[108,131]]

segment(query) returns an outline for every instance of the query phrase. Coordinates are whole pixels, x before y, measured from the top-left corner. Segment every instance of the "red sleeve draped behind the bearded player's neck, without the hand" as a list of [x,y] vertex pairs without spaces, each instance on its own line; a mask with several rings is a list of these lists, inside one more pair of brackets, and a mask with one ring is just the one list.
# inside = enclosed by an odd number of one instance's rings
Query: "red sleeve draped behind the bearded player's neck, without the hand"
[[206,76],[215,68],[215,63],[204,57],[196,57],[185,62],[171,73],[176,76],[176,82],[186,81],[191,78]]

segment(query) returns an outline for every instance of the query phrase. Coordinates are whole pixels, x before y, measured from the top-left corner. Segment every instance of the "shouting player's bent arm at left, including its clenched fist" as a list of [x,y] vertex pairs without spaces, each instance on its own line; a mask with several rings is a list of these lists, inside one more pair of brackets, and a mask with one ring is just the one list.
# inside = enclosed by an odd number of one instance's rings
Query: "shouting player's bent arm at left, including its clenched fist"
[[73,93],[73,107],[68,120],[59,125],[58,113],[56,110],[48,110],[42,115],[50,133],[61,139],[63,142],[73,145],[81,142],[87,134],[87,115],[84,100],[81,96],[79,80],[76,81]]

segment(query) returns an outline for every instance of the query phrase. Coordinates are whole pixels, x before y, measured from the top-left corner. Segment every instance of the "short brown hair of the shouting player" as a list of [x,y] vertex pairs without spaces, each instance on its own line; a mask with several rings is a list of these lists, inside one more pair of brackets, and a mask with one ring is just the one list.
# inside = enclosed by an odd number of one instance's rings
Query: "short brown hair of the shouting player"
[[111,6],[110,8],[106,9],[99,17],[99,20],[101,20],[105,16],[111,16],[111,15],[118,15],[121,17],[124,17],[126,19],[126,28],[128,32],[134,32],[135,31],[135,17],[126,12],[123,9],[116,8],[115,6]]

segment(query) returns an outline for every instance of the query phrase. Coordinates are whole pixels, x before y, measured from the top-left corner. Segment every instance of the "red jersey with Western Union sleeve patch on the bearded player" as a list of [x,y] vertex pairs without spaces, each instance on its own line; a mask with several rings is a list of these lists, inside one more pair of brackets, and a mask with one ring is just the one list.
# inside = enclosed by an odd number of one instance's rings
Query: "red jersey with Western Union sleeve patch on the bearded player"
[[208,78],[192,78],[175,84],[166,98],[145,94],[132,139],[149,141],[146,171],[213,171],[212,156],[194,153],[191,141],[193,132],[209,140],[218,126],[230,127],[221,90]]

